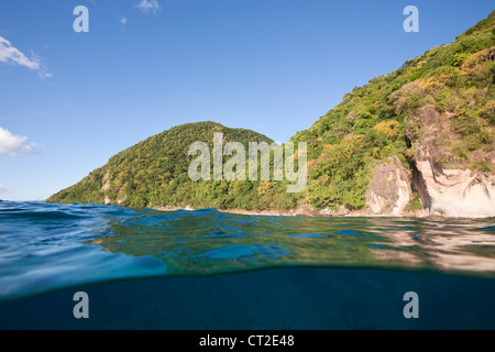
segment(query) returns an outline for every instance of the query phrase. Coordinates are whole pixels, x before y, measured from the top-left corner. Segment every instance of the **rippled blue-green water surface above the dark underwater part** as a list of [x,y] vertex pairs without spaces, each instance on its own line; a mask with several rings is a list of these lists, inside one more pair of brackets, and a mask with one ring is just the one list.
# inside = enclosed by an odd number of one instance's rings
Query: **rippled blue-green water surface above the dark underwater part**
[[495,277],[494,219],[298,218],[0,201],[0,300],[129,277],[350,266]]

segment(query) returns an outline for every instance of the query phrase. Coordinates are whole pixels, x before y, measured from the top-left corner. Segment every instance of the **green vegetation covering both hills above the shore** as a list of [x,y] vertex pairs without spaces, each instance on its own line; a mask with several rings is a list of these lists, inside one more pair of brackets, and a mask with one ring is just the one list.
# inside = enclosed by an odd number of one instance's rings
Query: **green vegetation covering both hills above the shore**
[[[189,123],[152,136],[110,158],[52,202],[287,210],[366,208],[375,165],[397,156],[413,169],[425,151],[442,168],[495,170],[495,12],[449,45],[440,45],[345,95],[293,142],[308,144],[308,186],[285,182],[193,182],[187,155],[195,141],[272,141],[213,122]],[[301,117],[302,118],[302,117]],[[210,145],[211,146],[211,145]],[[422,153],[422,154],[421,154]],[[409,208],[418,208],[416,200]]]

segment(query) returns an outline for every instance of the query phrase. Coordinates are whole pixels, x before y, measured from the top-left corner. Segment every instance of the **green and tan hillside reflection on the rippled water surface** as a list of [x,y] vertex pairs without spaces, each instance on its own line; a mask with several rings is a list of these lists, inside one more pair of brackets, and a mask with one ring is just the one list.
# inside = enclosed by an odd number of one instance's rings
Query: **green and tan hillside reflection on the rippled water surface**
[[91,241],[106,251],[153,255],[169,274],[270,265],[439,270],[495,276],[493,219],[307,218],[135,210]]

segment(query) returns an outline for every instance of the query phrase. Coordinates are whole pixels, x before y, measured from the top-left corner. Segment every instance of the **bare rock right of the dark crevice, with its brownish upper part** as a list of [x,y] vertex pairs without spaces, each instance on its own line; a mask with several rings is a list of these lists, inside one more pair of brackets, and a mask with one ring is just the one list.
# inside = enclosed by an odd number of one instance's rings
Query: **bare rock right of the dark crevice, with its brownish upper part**
[[[442,150],[439,141],[453,135],[449,127],[453,113],[444,117],[433,106],[419,111],[419,143],[416,144],[413,188],[429,215],[462,218],[495,217],[495,175],[463,166],[442,166],[439,160],[452,155]],[[474,154],[473,154],[474,156]],[[494,154],[477,152],[493,167]]]

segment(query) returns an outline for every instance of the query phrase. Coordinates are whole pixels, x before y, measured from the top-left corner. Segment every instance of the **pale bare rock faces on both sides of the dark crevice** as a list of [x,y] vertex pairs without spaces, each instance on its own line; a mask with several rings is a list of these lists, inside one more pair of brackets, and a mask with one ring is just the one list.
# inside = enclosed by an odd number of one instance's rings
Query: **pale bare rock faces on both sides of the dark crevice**
[[416,161],[413,175],[395,156],[374,168],[372,185],[366,193],[370,213],[404,215],[414,187],[427,215],[495,217],[495,175],[471,169],[443,169],[432,165],[428,155],[421,156]]

